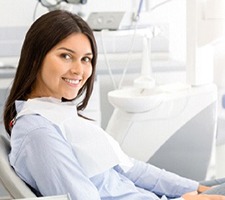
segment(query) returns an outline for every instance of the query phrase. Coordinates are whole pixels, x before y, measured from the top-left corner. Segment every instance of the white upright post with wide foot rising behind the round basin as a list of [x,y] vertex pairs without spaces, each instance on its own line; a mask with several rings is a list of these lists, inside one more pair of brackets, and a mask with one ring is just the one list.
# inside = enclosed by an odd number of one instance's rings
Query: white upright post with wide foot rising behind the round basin
[[136,88],[151,89],[155,87],[155,80],[154,78],[152,78],[152,69],[150,61],[150,40],[151,38],[147,35],[143,37],[141,76],[134,80],[134,87]]

